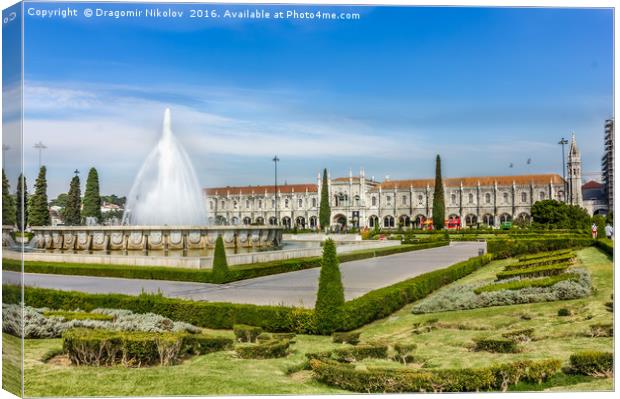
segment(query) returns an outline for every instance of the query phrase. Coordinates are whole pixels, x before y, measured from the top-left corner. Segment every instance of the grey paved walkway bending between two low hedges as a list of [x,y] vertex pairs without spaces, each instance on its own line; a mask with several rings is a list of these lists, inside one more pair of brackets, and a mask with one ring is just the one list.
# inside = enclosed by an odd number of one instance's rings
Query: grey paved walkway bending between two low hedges
[[[342,263],[345,298],[350,300],[374,289],[469,259],[477,256],[478,249],[485,246],[483,242],[453,242],[445,247]],[[211,302],[313,307],[319,271],[319,268],[300,270],[221,285],[35,273],[25,273],[24,283],[33,287],[90,293],[137,295],[142,290],[159,290],[167,297]],[[19,273],[2,273],[5,284],[18,284],[19,279]]]

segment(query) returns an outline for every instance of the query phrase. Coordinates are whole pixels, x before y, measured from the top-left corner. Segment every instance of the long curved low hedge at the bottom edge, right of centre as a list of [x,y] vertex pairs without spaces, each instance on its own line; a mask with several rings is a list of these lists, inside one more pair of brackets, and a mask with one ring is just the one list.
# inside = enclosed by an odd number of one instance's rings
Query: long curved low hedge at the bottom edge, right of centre
[[353,392],[477,392],[506,390],[519,381],[542,383],[560,371],[559,360],[519,361],[487,368],[356,369],[325,359],[310,360],[316,378]]

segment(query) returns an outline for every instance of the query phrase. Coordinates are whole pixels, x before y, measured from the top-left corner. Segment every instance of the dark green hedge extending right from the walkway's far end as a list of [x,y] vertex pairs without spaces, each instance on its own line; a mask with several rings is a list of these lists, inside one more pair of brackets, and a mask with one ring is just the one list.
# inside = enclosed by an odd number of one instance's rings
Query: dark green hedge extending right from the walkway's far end
[[594,245],[592,238],[570,236],[565,238],[491,239],[487,251],[497,259],[511,258],[534,252],[555,251],[566,248],[583,248]]

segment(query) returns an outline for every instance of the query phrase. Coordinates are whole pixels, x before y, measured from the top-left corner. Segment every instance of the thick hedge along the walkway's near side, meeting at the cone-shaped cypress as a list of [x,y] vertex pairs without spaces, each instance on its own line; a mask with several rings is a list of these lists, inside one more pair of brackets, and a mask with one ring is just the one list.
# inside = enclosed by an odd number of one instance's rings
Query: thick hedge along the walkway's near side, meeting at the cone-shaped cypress
[[[471,258],[348,301],[344,305],[344,320],[339,330],[351,331],[387,317],[406,304],[422,299],[438,288],[478,270],[489,263],[491,258],[491,255]],[[37,308],[84,311],[95,308],[128,309],[135,313],[156,313],[172,320],[213,329],[232,329],[235,324],[246,324],[269,332],[317,333],[314,310],[305,308],[190,301],[154,294],[87,294],[36,287],[25,287],[24,293],[25,304]],[[2,297],[3,303],[19,303],[21,288],[4,285]]]

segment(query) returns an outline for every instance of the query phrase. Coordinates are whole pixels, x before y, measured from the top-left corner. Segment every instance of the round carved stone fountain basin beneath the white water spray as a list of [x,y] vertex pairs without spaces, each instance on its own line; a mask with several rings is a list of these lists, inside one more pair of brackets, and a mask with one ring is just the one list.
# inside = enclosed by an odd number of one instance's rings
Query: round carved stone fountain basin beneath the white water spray
[[168,251],[215,247],[270,247],[282,242],[276,226],[45,226],[32,227],[39,249],[75,251]]

